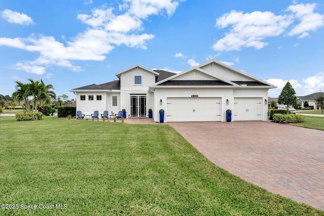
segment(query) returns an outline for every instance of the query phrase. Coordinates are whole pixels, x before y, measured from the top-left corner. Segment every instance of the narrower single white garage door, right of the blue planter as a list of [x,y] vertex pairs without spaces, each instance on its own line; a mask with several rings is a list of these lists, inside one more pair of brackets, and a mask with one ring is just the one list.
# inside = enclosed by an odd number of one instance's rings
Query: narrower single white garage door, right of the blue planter
[[262,120],[262,98],[234,98],[234,121]]

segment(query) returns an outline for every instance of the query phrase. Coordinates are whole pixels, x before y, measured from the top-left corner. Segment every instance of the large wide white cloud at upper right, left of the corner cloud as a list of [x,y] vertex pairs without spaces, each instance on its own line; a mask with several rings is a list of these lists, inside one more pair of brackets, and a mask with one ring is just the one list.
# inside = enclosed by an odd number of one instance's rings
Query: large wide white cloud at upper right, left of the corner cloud
[[255,11],[252,13],[231,11],[216,21],[216,27],[225,28],[231,25],[226,36],[213,45],[215,51],[240,50],[241,47],[262,49],[266,37],[278,36],[292,23],[292,16],[276,16],[272,12]]

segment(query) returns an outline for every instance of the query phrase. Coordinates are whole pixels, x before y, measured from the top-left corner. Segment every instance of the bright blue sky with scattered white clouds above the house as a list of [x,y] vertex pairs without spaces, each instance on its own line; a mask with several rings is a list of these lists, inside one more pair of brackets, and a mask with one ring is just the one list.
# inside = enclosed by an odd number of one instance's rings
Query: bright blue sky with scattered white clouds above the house
[[57,95],[142,65],[172,72],[211,59],[297,96],[324,91],[324,2],[0,0],[0,94],[43,79]]

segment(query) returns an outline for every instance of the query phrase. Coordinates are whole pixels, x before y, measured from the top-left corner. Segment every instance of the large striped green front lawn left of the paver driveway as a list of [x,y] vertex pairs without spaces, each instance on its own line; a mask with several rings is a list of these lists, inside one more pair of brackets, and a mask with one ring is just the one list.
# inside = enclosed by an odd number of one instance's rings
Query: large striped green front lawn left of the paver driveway
[[0,132],[0,204],[19,207],[0,215],[324,215],[229,174],[166,124],[0,117]]

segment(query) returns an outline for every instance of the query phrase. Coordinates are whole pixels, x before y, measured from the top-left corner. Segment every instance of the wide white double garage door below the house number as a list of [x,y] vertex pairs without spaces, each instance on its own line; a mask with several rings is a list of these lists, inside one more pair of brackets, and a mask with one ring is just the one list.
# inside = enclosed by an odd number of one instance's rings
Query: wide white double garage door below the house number
[[221,98],[168,98],[167,121],[220,121]]

